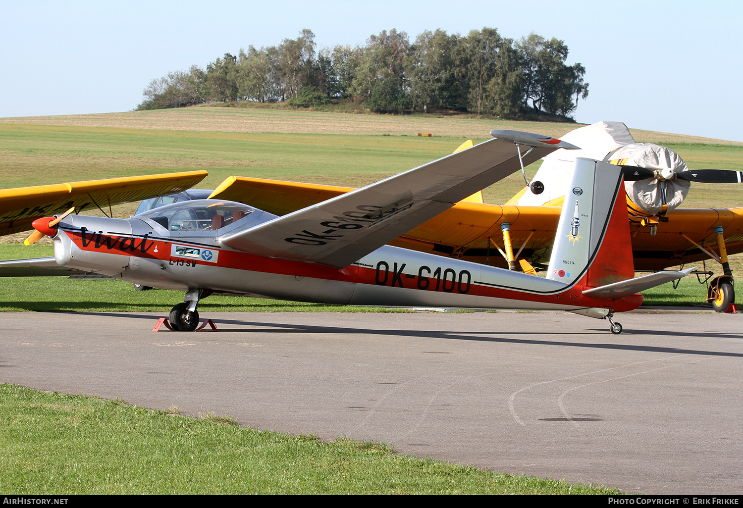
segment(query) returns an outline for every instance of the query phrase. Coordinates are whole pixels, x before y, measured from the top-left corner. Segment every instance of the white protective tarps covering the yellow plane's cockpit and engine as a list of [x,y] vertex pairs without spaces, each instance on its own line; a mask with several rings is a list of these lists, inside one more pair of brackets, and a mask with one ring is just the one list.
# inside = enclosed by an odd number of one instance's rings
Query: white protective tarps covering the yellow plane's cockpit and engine
[[[560,149],[542,159],[542,166],[532,181],[538,180],[545,185],[542,194],[533,194],[528,189],[516,201],[520,206],[542,206],[550,201],[557,201],[569,191],[572,171],[577,157],[594,160],[626,159],[628,166],[640,166],[649,169],[670,168],[674,172],[687,170],[684,160],[671,149],[652,143],[636,143],[629,128],[622,122],[598,122],[590,126],[577,128],[560,137],[568,143],[580,146],[580,150]],[[689,191],[689,182],[671,180],[659,183],[658,180],[637,180],[625,182],[629,198],[643,212],[655,215],[662,206],[661,185],[666,186],[666,201],[669,210],[680,205]]]

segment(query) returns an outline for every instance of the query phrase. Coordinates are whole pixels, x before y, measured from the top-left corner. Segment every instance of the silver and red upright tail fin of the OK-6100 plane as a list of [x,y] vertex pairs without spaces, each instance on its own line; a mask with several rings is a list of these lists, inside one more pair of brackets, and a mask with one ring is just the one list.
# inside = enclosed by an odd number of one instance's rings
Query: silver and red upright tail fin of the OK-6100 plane
[[578,158],[565,189],[547,278],[599,287],[634,276],[622,170]]

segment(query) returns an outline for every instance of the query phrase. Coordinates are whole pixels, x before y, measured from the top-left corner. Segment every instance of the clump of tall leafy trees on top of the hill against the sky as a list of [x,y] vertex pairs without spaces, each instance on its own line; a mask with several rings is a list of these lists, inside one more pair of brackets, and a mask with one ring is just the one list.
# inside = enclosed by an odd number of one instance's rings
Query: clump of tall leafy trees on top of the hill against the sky
[[404,32],[383,30],[361,46],[319,51],[314,33],[305,29],[278,46],[250,45],[206,69],[193,65],[153,79],[137,109],[240,100],[307,108],[337,99],[378,113],[568,116],[579,98],[588,97],[588,83],[583,65],[566,65],[567,57],[558,39],[531,33],[514,41],[487,27],[467,36],[426,30],[413,42]]

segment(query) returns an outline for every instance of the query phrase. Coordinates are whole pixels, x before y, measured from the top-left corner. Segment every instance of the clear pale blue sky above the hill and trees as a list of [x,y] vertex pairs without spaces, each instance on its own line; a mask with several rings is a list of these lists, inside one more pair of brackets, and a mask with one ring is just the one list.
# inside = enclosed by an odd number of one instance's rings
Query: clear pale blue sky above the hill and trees
[[129,111],[153,78],[302,28],[322,48],[487,26],[565,41],[590,83],[579,122],[743,141],[742,23],[742,1],[6,2],[0,117]]

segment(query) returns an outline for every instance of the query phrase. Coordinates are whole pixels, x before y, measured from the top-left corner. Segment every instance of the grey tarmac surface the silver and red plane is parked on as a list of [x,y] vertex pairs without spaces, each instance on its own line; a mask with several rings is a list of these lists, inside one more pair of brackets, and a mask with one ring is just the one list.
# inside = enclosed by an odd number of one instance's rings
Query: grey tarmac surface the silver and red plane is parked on
[[[1,313],[0,382],[649,494],[743,492],[743,315]],[[208,331],[207,331],[208,330]]]

